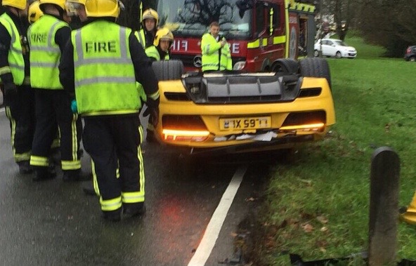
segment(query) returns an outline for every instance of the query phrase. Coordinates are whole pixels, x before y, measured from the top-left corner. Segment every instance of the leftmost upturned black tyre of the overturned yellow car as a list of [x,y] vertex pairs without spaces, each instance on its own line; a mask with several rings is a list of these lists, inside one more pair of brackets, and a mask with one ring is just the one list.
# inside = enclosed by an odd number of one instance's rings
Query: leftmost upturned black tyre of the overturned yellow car
[[181,79],[184,73],[181,60],[160,60],[152,63],[158,81]]

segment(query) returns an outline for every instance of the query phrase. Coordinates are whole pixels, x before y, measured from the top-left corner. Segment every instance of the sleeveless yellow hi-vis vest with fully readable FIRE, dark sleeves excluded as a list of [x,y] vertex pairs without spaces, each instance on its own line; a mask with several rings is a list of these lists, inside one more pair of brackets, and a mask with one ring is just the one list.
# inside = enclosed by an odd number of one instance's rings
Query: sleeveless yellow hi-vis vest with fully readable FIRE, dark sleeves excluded
[[80,114],[132,114],[141,108],[129,51],[130,34],[131,29],[105,20],[72,31]]

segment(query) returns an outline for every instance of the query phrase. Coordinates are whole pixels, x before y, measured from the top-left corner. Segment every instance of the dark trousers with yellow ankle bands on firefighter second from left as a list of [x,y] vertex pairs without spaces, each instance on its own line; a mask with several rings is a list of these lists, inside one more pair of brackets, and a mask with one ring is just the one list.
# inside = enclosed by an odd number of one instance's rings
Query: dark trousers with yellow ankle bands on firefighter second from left
[[35,89],[36,129],[32,145],[32,166],[47,167],[51,145],[56,138],[58,125],[60,135],[60,158],[63,171],[81,168],[79,142],[82,121],[72,114],[70,97],[63,90]]

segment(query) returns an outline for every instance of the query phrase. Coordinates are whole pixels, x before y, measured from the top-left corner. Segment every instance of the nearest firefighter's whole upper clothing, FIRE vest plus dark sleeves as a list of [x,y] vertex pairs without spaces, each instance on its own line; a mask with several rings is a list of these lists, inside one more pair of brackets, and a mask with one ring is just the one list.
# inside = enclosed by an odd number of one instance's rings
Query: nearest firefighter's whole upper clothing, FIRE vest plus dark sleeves
[[59,65],[60,81],[75,94],[84,116],[134,114],[141,107],[136,81],[158,105],[157,79],[150,59],[131,29],[98,19],[72,31]]

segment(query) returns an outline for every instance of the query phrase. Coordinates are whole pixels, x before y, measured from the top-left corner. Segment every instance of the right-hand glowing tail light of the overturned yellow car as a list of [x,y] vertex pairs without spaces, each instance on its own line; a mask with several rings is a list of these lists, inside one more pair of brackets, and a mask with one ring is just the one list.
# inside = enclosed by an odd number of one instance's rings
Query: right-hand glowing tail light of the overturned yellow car
[[325,111],[290,113],[280,131],[322,131],[326,123]]

